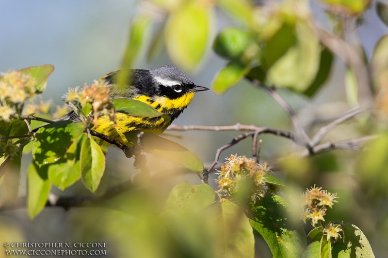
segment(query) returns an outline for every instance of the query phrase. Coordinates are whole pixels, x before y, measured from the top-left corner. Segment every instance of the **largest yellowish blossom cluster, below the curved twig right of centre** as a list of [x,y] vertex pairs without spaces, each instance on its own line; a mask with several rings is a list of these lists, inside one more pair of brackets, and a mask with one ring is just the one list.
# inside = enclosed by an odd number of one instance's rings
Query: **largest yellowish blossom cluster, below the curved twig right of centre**
[[252,201],[255,201],[259,196],[277,192],[274,185],[263,181],[265,173],[270,172],[270,168],[266,163],[264,165],[256,163],[255,159],[230,155],[218,172],[216,182],[225,193],[225,197],[231,197],[242,190],[241,187],[246,187],[246,182],[251,188],[249,194]]

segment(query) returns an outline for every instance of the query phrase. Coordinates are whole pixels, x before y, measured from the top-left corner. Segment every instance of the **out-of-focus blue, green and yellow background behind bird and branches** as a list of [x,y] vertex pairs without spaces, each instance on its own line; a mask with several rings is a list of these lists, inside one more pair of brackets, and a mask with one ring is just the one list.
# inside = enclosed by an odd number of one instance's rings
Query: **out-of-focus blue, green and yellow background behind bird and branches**
[[[307,158],[286,157],[276,164],[275,174],[289,185],[282,196],[292,207],[297,207],[292,197],[314,184],[338,193],[339,204],[327,211],[326,221],[357,225],[375,256],[386,257],[387,4],[383,0],[2,0],[0,71],[53,64],[55,71],[42,97],[62,105],[61,96],[68,87],[90,83],[109,71],[176,65],[197,85],[213,89],[194,98],[175,122],[182,125],[239,122],[293,130],[286,112],[244,76],[266,86],[282,87],[279,93],[297,112],[309,136],[361,104],[368,111],[331,130],[323,142],[381,134],[366,144],[365,152],[336,150]],[[334,54],[325,47],[330,45],[326,41],[330,37],[317,36],[317,28],[348,45]],[[357,65],[347,59],[349,49],[355,50],[352,53],[364,62],[370,77],[363,78]],[[238,133],[168,134],[177,136],[169,138],[194,152],[206,167],[216,150]],[[259,138],[263,141],[263,161],[271,163],[300,151],[288,139],[272,135]],[[221,158],[234,153],[251,155],[251,142],[240,142],[223,152]],[[3,210],[0,231],[6,234],[1,233],[0,240],[108,242],[109,257],[224,257],[225,250],[231,257],[243,257],[238,246],[244,244],[245,250],[254,245],[255,257],[271,257],[259,234],[255,233],[255,243],[239,242],[239,237],[252,231],[238,219],[232,220],[239,222],[237,229],[228,228],[233,223],[227,222],[230,217],[226,213],[235,212],[233,204],[210,206],[213,200],[207,197],[205,185],[195,186],[203,191],[200,203],[194,201],[198,213],[187,214],[174,205],[168,206],[174,202],[174,191],[179,190],[174,188],[170,193],[174,186],[200,181],[166,161],[147,158],[153,177],[145,182],[132,168],[132,160],[120,150],[109,149],[97,195],[132,178],[131,191],[102,201],[97,207],[68,211],[46,208],[33,221],[25,209]],[[26,193],[31,159],[27,154],[21,161],[19,197]],[[214,172],[210,173],[209,182],[214,188],[215,178]],[[80,182],[64,192],[57,188],[52,192],[68,197],[90,196]],[[0,197],[5,196],[6,189],[1,187]],[[168,212],[173,215],[165,215]],[[305,229],[308,232],[311,228]],[[228,230],[238,234],[227,235]]]

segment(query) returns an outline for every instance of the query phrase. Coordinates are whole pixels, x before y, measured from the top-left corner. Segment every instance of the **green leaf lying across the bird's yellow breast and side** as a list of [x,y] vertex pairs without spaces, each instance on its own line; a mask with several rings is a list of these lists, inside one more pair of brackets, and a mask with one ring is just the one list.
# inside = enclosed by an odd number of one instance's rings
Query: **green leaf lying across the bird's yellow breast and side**
[[134,99],[112,99],[114,109],[117,112],[126,113],[137,117],[162,117],[170,121],[170,117],[149,106],[148,104]]

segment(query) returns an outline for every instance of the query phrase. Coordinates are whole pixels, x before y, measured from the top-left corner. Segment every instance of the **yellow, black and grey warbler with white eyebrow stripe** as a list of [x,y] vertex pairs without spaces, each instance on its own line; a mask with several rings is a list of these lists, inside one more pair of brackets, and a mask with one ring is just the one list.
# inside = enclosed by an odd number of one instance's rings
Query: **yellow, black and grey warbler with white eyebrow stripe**
[[[135,117],[126,113],[116,112],[116,121],[108,115],[98,118],[98,127],[92,129],[121,143],[131,146],[132,143],[125,137],[130,131],[145,131],[160,135],[178,118],[190,104],[197,91],[208,91],[209,88],[197,86],[184,72],[171,65],[163,65],[156,69],[128,70],[129,83],[123,89],[118,87],[117,74],[114,71],[102,76],[98,82],[110,87],[110,98],[128,98],[144,102],[156,110],[169,116],[169,120],[160,117]],[[55,121],[80,122],[80,117],[71,111]],[[107,147],[108,143],[99,141]]]

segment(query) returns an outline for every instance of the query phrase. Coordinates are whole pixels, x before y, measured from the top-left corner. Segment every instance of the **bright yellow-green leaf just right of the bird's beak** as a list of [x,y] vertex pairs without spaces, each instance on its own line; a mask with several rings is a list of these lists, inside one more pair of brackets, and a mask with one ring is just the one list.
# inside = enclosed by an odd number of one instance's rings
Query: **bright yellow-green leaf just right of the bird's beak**
[[218,94],[223,94],[236,85],[249,71],[251,64],[243,64],[238,60],[229,61],[215,76],[213,90]]

